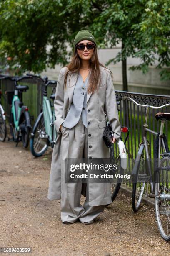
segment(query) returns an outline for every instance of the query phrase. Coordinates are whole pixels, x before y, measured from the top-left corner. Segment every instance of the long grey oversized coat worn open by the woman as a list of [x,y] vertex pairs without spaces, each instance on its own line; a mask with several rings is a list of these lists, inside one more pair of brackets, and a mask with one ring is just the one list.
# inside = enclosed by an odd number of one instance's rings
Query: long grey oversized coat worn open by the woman
[[[67,88],[64,88],[64,78],[67,67],[60,70],[55,92],[54,108],[56,120],[54,122],[58,136],[52,153],[50,181],[48,189],[48,199],[61,198],[61,169],[60,169],[60,144],[61,132],[60,125],[65,120],[70,108],[74,87],[77,81],[77,73],[68,73]],[[95,93],[87,93],[87,126],[88,136],[88,157],[92,158],[109,158],[109,149],[105,146],[102,139],[103,131],[106,126],[106,117],[112,125],[114,137],[118,141],[120,138],[120,122],[117,111],[115,90],[112,82],[110,71],[100,66],[101,81],[99,88]],[[69,156],[68,156],[69,157]],[[111,203],[110,184],[89,183],[89,205],[107,205]]]

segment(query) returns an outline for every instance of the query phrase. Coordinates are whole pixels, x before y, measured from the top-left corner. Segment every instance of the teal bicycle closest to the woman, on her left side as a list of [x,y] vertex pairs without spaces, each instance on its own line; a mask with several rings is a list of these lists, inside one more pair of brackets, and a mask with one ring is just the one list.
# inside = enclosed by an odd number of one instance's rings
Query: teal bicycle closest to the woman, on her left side
[[[47,98],[47,86],[50,84],[57,84],[57,81],[48,80],[47,77],[42,79],[39,75],[27,74],[29,77],[40,79],[45,84],[43,92],[43,101],[41,113],[35,120],[30,138],[30,151],[33,156],[42,156],[47,150],[48,146],[54,147],[57,138],[57,131],[54,128],[53,121],[55,120],[55,111],[52,112],[52,105]],[[50,99],[54,100],[55,93],[50,95]]]

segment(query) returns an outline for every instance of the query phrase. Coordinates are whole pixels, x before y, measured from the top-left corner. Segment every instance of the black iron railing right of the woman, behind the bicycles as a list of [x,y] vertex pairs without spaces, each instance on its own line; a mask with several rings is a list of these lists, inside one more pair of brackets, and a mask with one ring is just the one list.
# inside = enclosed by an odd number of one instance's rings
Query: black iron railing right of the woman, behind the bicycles
[[[142,94],[135,92],[124,92],[115,90],[116,96],[128,96],[133,98],[136,102],[143,105],[153,105],[153,106],[162,106],[167,103],[170,103],[170,95],[151,95],[151,94]],[[138,153],[139,143],[142,141],[143,136],[143,124],[145,122],[145,108],[136,106],[132,101],[122,100],[118,107],[120,123],[122,126],[127,126],[130,130],[128,140],[126,142],[126,149],[128,153],[128,173],[131,174],[135,158]],[[170,113],[170,107],[163,109],[155,110],[150,109],[148,115],[148,128],[154,131],[160,131],[160,121],[157,121],[155,114],[158,112],[168,112]],[[164,133],[167,137],[168,143],[170,143],[170,121],[165,122]],[[125,139],[125,134],[124,136]],[[153,158],[153,143],[155,140],[155,135],[148,133],[148,141],[150,143],[150,157]],[[127,183],[129,183],[127,181]],[[129,184],[131,185],[131,184]]]

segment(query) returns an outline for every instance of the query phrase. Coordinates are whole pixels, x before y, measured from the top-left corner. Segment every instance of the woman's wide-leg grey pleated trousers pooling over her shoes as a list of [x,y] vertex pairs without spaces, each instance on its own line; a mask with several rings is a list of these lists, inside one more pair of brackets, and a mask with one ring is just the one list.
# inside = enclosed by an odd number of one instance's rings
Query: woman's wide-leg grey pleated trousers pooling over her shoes
[[[88,181],[86,187],[82,183],[65,183],[65,158],[87,158],[87,128],[82,123],[82,117],[73,128],[61,128],[61,220],[62,222],[93,223],[100,215],[105,205],[90,206],[88,204]],[[83,186],[82,186],[83,185]],[[84,205],[80,204],[82,189],[86,189]]]

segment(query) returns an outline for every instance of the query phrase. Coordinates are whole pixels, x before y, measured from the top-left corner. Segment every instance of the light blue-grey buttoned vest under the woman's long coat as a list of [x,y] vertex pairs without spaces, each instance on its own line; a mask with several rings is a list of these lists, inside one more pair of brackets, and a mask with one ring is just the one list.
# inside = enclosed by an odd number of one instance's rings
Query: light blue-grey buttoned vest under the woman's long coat
[[78,79],[75,84],[74,94],[72,97],[72,103],[70,109],[68,110],[67,116],[62,123],[62,126],[71,129],[74,127],[82,115],[82,123],[87,128],[87,82],[88,76],[85,82],[82,80],[80,73],[78,74]]

